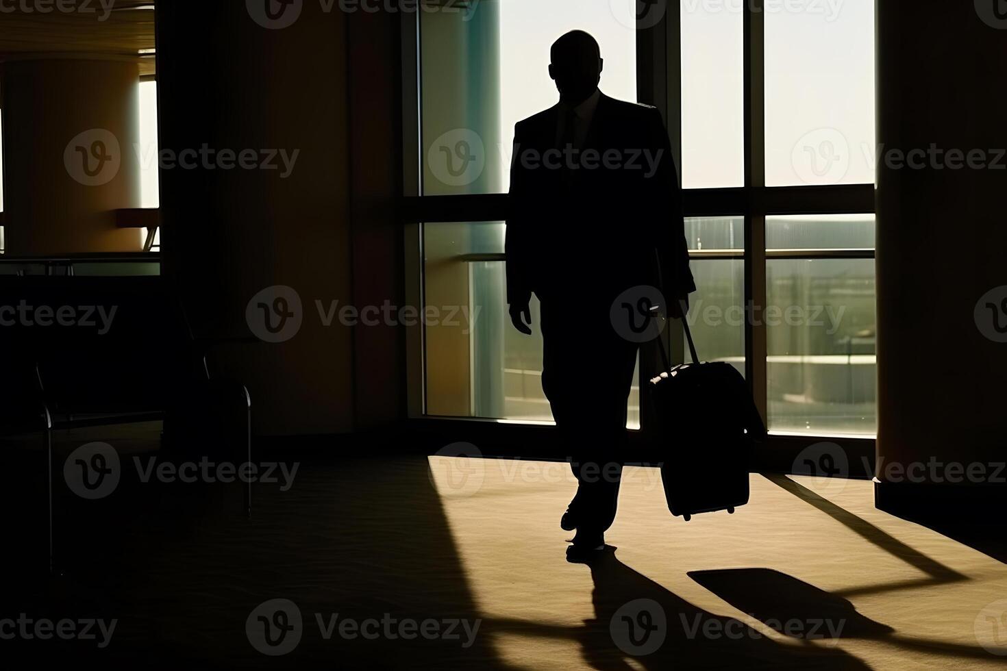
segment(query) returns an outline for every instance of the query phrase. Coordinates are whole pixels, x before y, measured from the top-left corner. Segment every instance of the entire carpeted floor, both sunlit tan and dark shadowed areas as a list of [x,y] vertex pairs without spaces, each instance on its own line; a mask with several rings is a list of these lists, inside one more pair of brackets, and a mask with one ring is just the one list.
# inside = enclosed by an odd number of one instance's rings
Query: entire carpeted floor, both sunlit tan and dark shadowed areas
[[[298,462],[286,491],[282,478],[256,484],[249,518],[241,483],[143,482],[151,457],[182,460],[156,452],[158,431],[57,436],[54,576],[44,451],[0,443],[5,668],[15,658],[200,669],[1007,661],[995,654],[1007,653],[1007,565],[874,509],[868,482],[753,475],[748,506],[686,523],[668,513],[658,471],[630,467],[606,538],[617,549],[584,565],[566,561],[558,527],[575,487],[564,464],[383,458],[375,445],[367,458]],[[99,500],[62,478],[92,441],[122,464]],[[18,618],[116,625],[104,640],[40,640],[30,626],[2,636],[13,631],[4,619]]]

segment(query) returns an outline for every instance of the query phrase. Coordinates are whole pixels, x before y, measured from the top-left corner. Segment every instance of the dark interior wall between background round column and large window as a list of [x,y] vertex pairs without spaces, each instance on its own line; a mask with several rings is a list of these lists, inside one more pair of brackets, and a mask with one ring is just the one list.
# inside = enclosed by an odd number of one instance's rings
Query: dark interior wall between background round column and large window
[[[328,309],[333,301],[342,307],[362,299],[381,305],[381,297],[401,284],[394,275],[395,238],[366,225],[366,210],[351,198],[351,185],[370,188],[369,201],[391,195],[391,164],[385,162],[394,137],[386,137],[384,149],[379,144],[365,152],[372,160],[364,162],[361,138],[351,140],[349,126],[355,100],[350,80],[359,87],[361,77],[369,76],[390,88],[398,80],[383,61],[368,70],[368,63],[354,59],[352,67],[359,70],[351,71],[349,44],[361,48],[359,39],[347,37],[350,15],[338,7],[326,12],[322,3],[304,2],[297,20],[279,29],[257,23],[241,0],[172,0],[157,7],[162,150],[205,144],[235,152],[284,149],[288,156],[299,151],[286,179],[279,158],[279,170],[161,174],[165,274],[197,336],[214,341],[213,358],[249,386],[259,434],[339,433],[354,428],[357,408],[366,423],[399,412],[398,379],[384,380],[382,406],[375,409],[373,390],[354,394],[353,374],[371,374],[364,366],[384,361],[379,376],[386,377],[397,336],[357,332],[357,342],[370,340],[354,347],[354,329],[338,319],[325,326],[315,305],[320,301]],[[385,94],[371,95],[381,100]],[[362,113],[357,106],[354,116]],[[354,160],[379,173],[368,173],[375,181],[354,177]],[[386,203],[379,211],[389,208]],[[364,285],[353,281],[354,256],[369,264],[362,269],[371,278]],[[252,335],[246,308],[256,294],[277,285],[297,292],[302,324],[284,342],[262,342]]]

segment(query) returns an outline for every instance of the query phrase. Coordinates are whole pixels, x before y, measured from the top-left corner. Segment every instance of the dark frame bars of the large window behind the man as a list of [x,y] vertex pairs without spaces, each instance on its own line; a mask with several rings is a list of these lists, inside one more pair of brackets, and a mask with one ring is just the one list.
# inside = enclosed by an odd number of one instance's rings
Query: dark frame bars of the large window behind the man
[[[680,166],[682,179],[681,144],[681,18],[678,3],[657,0],[668,5],[662,20],[649,27],[637,27],[637,99],[661,110],[668,128],[680,129],[672,134],[672,149],[676,165]],[[700,188],[683,190],[683,216],[738,216],[744,217],[744,249],[736,253],[697,251],[691,258],[743,259],[744,301],[747,306],[766,304],[766,263],[774,259],[874,259],[872,249],[803,249],[767,251],[765,248],[765,220],[775,215],[821,214],[874,214],[873,184],[838,184],[822,186],[765,186],[765,58],[763,49],[764,17],[763,0],[743,3],[743,79],[744,79],[744,185],[726,188]],[[421,29],[418,14],[403,15],[403,202],[400,209],[404,230],[406,254],[407,299],[411,305],[423,305],[423,225],[425,221],[494,221],[507,219],[507,194],[472,194],[451,196],[422,195],[422,144],[420,95]],[[727,255],[725,257],[725,254]],[[502,255],[500,255],[502,260]],[[750,317],[750,315],[748,315]],[[681,362],[684,336],[681,326],[669,329],[674,359]],[[424,384],[425,352],[423,329],[411,328],[407,334],[407,386],[411,418],[433,418],[426,414]],[[640,370],[657,364],[646,350],[641,348]],[[762,320],[745,320],[745,373],[749,389],[763,420],[767,420],[766,378],[767,333]],[[642,380],[641,380],[642,381]],[[642,384],[641,384],[642,389]],[[645,435],[655,423],[650,418],[645,403],[640,408],[641,434]],[[458,417],[452,422],[486,422],[480,417]],[[809,442],[829,439],[847,448],[850,454],[873,456],[873,437],[770,434],[766,446],[788,448],[782,453],[774,451],[777,458],[799,451]],[[796,452],[795,452],[796,454]],[[769,460],[766,464],[773,464]],[[786,470],[785,461],[778,463]],[[857,474],[853,474],[857,475]],[[867,475],[869,474],[859,474]]]

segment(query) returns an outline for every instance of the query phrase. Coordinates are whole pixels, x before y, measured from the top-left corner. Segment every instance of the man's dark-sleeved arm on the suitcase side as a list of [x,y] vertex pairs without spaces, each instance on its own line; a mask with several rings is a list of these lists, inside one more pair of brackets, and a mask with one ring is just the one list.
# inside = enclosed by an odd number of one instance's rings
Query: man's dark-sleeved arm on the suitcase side
[[656,227],[658,260],[664,287],[661,288],[669,301],[669,312],[681,316],[679,301],[688,303],[689,294],[696,291],[696,283],[689,269],[689,244],[686,241],[685,221],[682,216],[682,189],[679,187],[678,170],[668,131],[657,109],[650,111],[650,145],[652,151],[660,152],[658,170],[652,180],[650,192],[654,198],[653,225]]

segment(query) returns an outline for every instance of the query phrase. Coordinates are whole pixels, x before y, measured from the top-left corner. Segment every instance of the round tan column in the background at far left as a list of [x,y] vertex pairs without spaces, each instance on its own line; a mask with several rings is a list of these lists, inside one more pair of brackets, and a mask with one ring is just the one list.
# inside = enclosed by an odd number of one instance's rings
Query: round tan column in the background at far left
[[6,251],[139,251],[115,210],[140,206],[139,66],[100,56],[2,66]]

